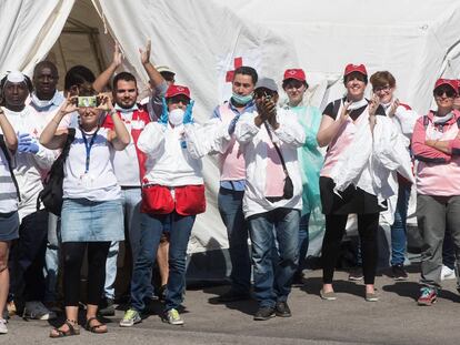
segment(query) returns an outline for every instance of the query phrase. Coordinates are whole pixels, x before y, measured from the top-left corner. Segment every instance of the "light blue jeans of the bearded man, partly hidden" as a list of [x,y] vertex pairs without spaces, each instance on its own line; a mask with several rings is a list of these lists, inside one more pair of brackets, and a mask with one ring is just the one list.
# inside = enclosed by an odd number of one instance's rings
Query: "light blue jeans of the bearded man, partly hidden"
[[[137,253],[139,252],[139,236],[140,236],[140,202],[141,189],[122,189],[121,190],[121,205],[124,215],[124,232],[128,233],[132,262],[136,262]],[[109,254],[106,262],[106,298],[114,298],[114,282],[117,278],[117,258],[118,258],[119,243],[112,242],[110,244]],[[151,272],[150,272],[151,276]],[[153,287],[150,285],[150,295],[153,295]]]

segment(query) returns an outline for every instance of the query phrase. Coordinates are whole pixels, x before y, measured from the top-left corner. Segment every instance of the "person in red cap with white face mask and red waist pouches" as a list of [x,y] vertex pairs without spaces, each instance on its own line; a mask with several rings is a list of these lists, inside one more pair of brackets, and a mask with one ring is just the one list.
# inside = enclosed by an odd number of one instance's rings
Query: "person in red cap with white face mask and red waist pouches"
[[[201,156],[192,150],[188,128],[196,126],[190,90],[170,85],[158,122],[141,132],[138,149],[147,155],[142,179],[140,246],[131,277],[131,306],[120,326],[141,322],[150,271],[156,261],[164,227],[169,227],[169,278],[163,321],[182,325],[179,314],[186,288],[186,257],[196,215],[204,212],[204,181]],[[204,140],[203,138],[201,140]]]

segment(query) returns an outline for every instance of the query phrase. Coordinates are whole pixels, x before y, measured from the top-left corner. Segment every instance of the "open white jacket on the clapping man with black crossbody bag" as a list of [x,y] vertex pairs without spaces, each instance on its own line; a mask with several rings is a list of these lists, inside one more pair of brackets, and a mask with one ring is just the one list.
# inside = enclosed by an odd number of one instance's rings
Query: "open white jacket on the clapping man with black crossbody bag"
[[[278,130],[272,130],[273,141],[280,148],[289,176],[293,184],[293,197],[270,202],[264,196],[267,183],[267,144],[264,125],[258,128],[254,124],[257,111],[244,113],[237,122],[234,134],[241,145],[246,160],[246,189],[243,197],[243,213],[246,217],[264,213],[279,207],[302,210],[302,181],[300,177],[297,149],[304,140],[306,133],[297,121],[297,116],[289,110],[278,109]],[[268,139],[270,140],[270,139]]]

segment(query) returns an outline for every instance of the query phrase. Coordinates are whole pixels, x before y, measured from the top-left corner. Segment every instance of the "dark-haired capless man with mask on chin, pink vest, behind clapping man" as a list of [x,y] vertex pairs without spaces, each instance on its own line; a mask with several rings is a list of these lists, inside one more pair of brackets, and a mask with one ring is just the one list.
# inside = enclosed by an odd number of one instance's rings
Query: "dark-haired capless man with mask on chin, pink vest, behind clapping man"
[[239,67],[233,72],[232,97],[214,109],[213,119],[219,119],[228,128],[229,140],[220,150],[220,189],[218,207],[227,227],[231,261],[231,287],[216,298],[228,303],[250,297],[251,261],[248,247],[248,224],[242,212],[246,185],[244,156],[234,136],[234,126],[240,116],[256,110],[253,91],[258,81],[257,71],[251,67]]

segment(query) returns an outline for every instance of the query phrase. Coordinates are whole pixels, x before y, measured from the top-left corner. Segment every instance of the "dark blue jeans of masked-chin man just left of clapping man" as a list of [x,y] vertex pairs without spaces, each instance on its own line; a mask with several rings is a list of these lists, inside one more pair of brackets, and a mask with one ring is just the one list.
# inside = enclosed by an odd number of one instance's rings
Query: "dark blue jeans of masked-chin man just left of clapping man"
[[242,212],[243,191],[220,189],[218,204],[220,216],[227,227],[231,261],[231,288],[247,294],[251,285],[251,261],[248,246],[248,224]]

